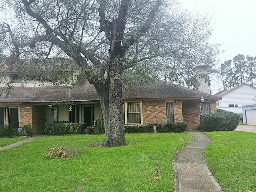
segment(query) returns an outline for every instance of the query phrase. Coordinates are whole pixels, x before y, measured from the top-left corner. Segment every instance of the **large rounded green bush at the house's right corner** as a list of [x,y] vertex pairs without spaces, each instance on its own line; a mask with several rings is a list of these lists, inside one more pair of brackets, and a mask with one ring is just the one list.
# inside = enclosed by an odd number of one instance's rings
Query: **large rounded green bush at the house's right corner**
[[200,126],[203,131],[231,131],[237,128],[240,116],[233,112],[217,109],[216,113],[207,114],[204,124]]

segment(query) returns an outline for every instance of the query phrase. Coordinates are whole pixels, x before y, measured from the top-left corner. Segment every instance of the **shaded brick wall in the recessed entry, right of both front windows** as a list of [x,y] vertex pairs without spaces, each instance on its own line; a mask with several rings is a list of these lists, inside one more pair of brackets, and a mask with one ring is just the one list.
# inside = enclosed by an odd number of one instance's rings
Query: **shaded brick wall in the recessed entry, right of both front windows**
[[187,130],[196,130],[199,122],[198,101],[182,102],[183,121],[188,122]]

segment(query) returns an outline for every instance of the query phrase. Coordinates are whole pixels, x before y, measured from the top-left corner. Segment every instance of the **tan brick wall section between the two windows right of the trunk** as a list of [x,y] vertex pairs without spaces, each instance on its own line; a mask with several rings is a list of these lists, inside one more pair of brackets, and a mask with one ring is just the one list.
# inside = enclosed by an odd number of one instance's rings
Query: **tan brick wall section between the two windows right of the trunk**
[[165,101],[143,101],[143,124],[166,123]]

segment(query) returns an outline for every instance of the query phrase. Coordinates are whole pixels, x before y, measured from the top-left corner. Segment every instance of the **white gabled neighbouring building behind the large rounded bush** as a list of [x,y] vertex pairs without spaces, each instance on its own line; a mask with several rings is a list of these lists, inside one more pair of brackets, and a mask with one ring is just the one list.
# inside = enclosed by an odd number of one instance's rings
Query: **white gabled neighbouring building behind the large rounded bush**
[[234,113],[242,113],[242,106],[256,104],[256,88],[248,84],[223,90],[216,93],[215,96],[222,97],[222,100],[216,101],[217,108]]

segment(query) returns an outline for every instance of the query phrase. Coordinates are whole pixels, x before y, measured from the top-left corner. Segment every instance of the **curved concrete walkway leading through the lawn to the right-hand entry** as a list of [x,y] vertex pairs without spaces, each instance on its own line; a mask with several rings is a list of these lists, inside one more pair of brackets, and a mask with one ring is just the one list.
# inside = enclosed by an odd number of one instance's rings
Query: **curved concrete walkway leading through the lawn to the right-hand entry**
[[204,150],[211,139],[200,131],[188,133],[194,140],[174,158],[175,192],[221,192],[204,159]]

